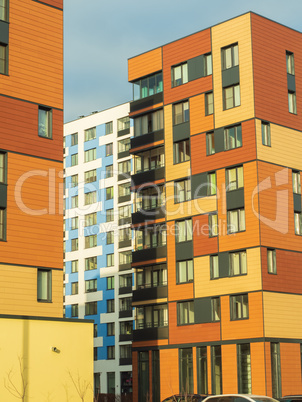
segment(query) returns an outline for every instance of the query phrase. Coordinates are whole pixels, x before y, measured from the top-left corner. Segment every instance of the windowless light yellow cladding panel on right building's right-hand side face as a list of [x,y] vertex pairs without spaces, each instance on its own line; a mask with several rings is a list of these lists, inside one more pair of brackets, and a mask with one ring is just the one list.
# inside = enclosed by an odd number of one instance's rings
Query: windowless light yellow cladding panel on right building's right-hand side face
[[264,292],[264,336],[300,339],[301,309],[301,295]]

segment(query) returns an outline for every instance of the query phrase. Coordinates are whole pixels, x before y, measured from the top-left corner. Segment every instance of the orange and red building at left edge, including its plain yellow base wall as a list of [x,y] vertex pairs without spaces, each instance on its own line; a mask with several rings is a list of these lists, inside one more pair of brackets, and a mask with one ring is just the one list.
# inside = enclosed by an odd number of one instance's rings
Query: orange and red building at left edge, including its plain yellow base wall
[[0,1],[0,105],[1,400],[60,401],[93,382],[63,318],[63,0]]

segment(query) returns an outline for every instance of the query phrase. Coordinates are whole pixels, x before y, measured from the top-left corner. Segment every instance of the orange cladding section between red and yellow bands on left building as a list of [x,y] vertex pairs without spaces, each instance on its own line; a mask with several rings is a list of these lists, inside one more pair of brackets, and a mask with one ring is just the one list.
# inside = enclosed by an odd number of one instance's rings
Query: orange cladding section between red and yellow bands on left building
[[8,154],[2,263],[63,268],[62,164]]

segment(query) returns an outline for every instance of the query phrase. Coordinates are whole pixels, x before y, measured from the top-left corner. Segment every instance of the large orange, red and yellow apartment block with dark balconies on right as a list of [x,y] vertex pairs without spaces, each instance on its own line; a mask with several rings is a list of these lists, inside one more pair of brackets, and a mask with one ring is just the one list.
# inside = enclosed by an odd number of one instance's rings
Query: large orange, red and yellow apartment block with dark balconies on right
[[133,400],[301,393],[301,33],[249,12],[128,64]]

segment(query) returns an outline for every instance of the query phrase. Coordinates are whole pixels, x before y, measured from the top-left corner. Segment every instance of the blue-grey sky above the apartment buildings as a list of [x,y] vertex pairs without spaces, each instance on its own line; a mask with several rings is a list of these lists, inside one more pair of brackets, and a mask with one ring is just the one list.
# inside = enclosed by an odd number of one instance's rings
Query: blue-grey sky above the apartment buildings
[[131,100],[128,58],[247,11],[302,31],[301,0],[64,0],[64,121]]

